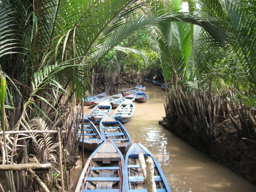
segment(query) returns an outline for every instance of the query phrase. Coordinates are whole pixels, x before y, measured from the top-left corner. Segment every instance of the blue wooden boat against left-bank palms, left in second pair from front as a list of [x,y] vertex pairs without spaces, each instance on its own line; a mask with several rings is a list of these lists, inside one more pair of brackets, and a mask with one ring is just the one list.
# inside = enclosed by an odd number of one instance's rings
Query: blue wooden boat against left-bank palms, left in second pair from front
[[[83,119],[84,122],[76,126],[78,128],[77,139],[79,140],[79,146],[84,146],[84,150],[94,151],[103,142],[103,138],[95,124],[93,124],[86,116],[84,116]],[[82,124],[84,128],[84,134]]]

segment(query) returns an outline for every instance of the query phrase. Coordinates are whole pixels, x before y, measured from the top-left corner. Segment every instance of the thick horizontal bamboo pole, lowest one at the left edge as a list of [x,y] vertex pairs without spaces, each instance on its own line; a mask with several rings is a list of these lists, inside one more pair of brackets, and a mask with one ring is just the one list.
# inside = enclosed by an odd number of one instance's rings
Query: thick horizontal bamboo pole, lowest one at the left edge
[[21,170],[41,170],[41,169],[51,169],[51,163],[45,164],[36,164],[36,163],[24,163],[24,164],[8,164],[8,165],[0,165],[0,171],[21,171]]

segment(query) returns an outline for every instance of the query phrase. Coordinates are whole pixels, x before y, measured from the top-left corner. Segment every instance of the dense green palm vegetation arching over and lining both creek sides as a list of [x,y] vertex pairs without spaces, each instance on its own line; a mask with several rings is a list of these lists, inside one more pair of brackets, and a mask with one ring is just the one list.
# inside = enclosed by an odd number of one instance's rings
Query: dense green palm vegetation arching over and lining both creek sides
[[[0,0],[1,130],[65,130],[67,175],[78,156],[69,124],[77,99],[158,75],[173,84],[173,118],[204,141],[227,118],[241,138],[255,138],[255,3],[188,5],[182,13],[179,0]],[[24,160],[25,140],[29,155],[59,166],[55,135],[3,135],[3,163]],[[45,174],[49,189],[58,174]],[[6,180],[13,178],[10,171]]]

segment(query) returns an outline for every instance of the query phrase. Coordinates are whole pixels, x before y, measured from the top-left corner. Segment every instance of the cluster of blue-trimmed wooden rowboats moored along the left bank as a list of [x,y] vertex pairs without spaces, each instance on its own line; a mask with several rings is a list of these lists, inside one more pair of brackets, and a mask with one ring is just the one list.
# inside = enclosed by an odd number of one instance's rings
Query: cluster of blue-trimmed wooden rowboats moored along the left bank
[[[139,142],[135,142],[130,147],[131,137],[123,126],[123,123],[131,118],[130,114],[134,113],[133,101],[136,101],[136,95],[143,94],[145,96],[145,89],[145,87],[138,86],[121,90],[119,94],[122,97],[117,98],[118,96],[114,95],[115,100],[110,102],[104,100],[106,97],[93,99],[91,105],[95,105],[95,107],[87,116],[75,115],[75,119],[78,121],[75,127],[79,145],[85,150],[93,151],[81,173],[76,192],[146,192],[138,159],[140,153],[144,154],[144,158],[151,156],[154,161],[154,180],[157,192],[170,192],[163,171],[152,153]],[[148,99],[148,95],[145,97]],[[120,101],[122,98],[125,99]],[[84,102],[88,100],[86,98]],[[144,102],[143,100],[142,102]],[[116,110],[113,115],[110,115],[111,108],[115,108],[115,106]],[[95,123],[99,123],[100,130],[97,129]],[[122,153],[125,151],[127,153],[124,160]]]

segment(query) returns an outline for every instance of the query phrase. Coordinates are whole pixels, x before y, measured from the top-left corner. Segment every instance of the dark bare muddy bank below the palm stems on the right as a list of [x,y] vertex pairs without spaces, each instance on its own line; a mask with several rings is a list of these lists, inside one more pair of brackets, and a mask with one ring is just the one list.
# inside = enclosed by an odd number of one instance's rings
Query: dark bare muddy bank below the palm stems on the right
[[231,121],[216,125],[216,138],[209,142],[192,134],[184,122],[164,117],[159,124],[199,151],[206,153],[211,159],[256,184],[256,142],[241,140]]

